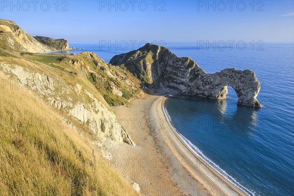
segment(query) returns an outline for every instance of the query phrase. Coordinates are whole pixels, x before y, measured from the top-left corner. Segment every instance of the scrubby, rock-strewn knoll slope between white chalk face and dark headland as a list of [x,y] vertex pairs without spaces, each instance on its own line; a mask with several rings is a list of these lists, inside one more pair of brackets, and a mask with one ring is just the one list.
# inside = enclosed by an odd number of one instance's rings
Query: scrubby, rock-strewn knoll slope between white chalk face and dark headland
[[64,65],[70,65],[71,70],[90,78],[111,106],[127,104],[141,92],[140,80],[126,70],[106,63],[94,52],[81,52]]

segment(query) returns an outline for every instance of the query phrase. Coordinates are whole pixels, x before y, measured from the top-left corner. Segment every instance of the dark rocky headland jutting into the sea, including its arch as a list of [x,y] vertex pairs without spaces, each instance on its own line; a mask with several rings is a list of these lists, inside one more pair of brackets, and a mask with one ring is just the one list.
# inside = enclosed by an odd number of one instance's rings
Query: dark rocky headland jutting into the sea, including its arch
[[168,87],[182,94],[222,99],[226,98],[227,86],[231,86],[239,98],[238,104],[262,106],[256,98],[260,83],[250,70],[206,73],[191,58],[179,58],[169,49],[152,44],[116,55],[110,63],[126,67],[142,83],[153,88]]

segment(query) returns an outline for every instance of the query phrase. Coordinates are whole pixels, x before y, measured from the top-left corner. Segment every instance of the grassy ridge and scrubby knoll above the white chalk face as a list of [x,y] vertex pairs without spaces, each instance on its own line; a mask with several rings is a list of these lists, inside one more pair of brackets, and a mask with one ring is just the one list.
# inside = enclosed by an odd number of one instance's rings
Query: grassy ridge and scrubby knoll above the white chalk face
[[[48,55],[27,52],[9,52],[4,50],[1,61],[8,63],[34,64],[32,67],[49,73],[62,71],[63,77],[70,81],[77,78],[87,78],[103,96],[110,106],[125,105],[129,99],[140,96],[140,81],[126,69],[112,66],[100,59],[94,52],[81,52],[77,55]],[[41,64],[40,64],[41,63]],[[45,64],[46,67],[43,67]],[[29,66],[31,67],[31,66]],[[51,69],[55,68],[55,69]],[[104,101],[104,100],[103,100]]]

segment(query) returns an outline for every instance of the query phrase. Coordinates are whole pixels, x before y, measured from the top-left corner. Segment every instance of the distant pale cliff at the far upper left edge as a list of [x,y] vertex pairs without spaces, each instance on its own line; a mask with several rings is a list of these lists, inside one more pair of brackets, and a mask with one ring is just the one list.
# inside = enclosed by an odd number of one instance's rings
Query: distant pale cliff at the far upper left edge
[[37,41],[14,22],[2,19],[0,19],[0,49],[34,53],[54,50]]

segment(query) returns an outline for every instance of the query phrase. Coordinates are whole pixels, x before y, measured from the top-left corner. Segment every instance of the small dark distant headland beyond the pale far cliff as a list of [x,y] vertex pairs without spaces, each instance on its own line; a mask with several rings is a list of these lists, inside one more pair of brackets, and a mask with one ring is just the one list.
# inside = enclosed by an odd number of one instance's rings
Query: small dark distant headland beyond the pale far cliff
[[34,36],[40,43],[49,46],[56,50],[67,50],[70,49],[69,42],[65,39],[53,39],[50,37]]

